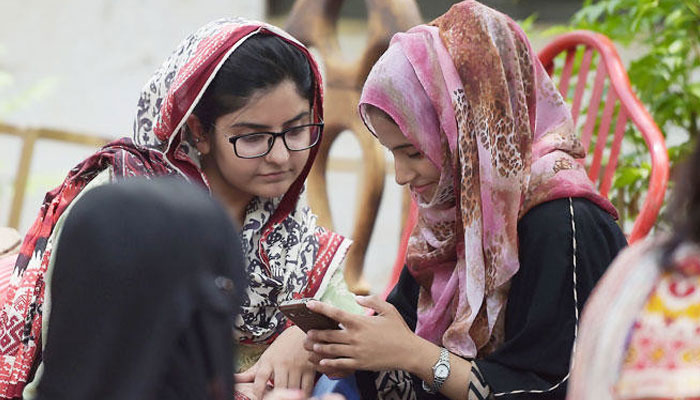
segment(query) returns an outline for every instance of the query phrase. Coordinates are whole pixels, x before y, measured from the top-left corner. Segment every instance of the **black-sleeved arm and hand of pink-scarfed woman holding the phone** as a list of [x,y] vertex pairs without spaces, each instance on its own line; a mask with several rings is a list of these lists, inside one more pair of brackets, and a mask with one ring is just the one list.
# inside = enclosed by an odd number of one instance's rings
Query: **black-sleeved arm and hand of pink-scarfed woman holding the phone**
[[[595,282],[625,244],[622,232],[609,215],[587,200],[573,202],[576,210],[576,271],[569,199],[535,207],[519,224],[521,266],[512,280],[506,308],[505,341],[484,359],[469,362],[452,356],[450,377],[441,391],[445,396],[464,398],[472,382],[476,379],[482,381],[480,371],[492,391],[502,393],[504,398],[517,397],[517,393],[511,396],[510,392],[522,391],[527,392],[525,396],[548,397],[547,393],[550,393],[555,398],[563,397],[577,313]],[[399,311],[383,305],[384,302],[371,308],[380,311],[384,307],[385,315],[379,316],[384,319],[401,319],[403,316],[401,322],[408,322],[410,326],[406,330],[412,337],[395,327],[390,328],[388,323],[381,329],[369,329],[370,320],[361,320],[360,327],[354,327],[355,321],[347,319],[344,325],[348,331],[354,332],[352,335],[343,331],[312,332],[309,335],[305,344],[307,349],[313,349],[315,353],[317,349],[333,351],[334,356],[344,357],[323,360],[320,363],[322,368],[337,365],[368,370],[400,368],[428,383],[432,381],[431,367],[438,358],[438,347],[422,343],[422,339],[412,333],[418,284],[404,271],[397,288],[389,297]],[[363,300],[360,303],[369,306]],[[319,311],[325,308],[321,306]],[[325,311],[334,314],[336,319],[346,317],[335,310]],[[379,325],[381,320],[377,321],[372,322]],[[362,347],[372,341],[376,342],[372,347]],[[333,345],[325,347],[324,342]],[[336,344],[339,346],[333,347]],[[420,365],[412,364],[411,360],[420,362]],[[472,363],[476,366],[475,373],[470,373]]]

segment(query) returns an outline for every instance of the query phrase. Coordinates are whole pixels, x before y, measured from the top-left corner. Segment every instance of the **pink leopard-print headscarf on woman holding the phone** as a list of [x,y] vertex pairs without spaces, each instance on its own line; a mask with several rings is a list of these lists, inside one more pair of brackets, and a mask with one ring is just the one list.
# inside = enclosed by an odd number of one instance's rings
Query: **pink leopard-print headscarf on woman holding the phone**
[[577,161],[585,150],[569,109],[522,29],[475,1],[396,34],[360,100],[374,132],[367,105],[441,171],[432,200],[414,196],[406,264],[421,285],[416,333],[463,357],[484,355],[502,341],[519,219],[565,197],[617,216]]

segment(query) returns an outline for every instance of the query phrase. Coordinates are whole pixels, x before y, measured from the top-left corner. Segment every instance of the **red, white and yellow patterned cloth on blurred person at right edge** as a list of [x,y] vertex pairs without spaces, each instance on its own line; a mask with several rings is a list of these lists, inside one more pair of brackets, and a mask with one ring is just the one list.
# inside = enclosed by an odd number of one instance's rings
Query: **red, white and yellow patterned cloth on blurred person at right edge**
[[[700,252],[665,272],[632,327],[617,398],[700,397]],[[692,266],[694,273],[682,269]]]

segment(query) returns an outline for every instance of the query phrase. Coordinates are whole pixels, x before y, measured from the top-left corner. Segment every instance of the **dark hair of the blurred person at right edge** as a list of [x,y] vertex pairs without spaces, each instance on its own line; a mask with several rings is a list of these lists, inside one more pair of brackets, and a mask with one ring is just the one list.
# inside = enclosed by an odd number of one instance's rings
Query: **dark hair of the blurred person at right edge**
[[672,267],[671,257],[683,242],[700,244],[700,140],[693,152],[677,168],[671,201],[668,204],[672,235],[666,243],[662,264]]

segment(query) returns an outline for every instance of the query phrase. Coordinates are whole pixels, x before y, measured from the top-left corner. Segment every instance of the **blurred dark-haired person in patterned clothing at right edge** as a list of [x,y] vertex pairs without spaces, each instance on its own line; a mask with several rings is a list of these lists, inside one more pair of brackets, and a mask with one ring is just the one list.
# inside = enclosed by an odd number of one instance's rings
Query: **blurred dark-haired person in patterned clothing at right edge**
[[586,305],[570,400],[700,399],[700,141],[680,171],[670,233],[622,252]]

